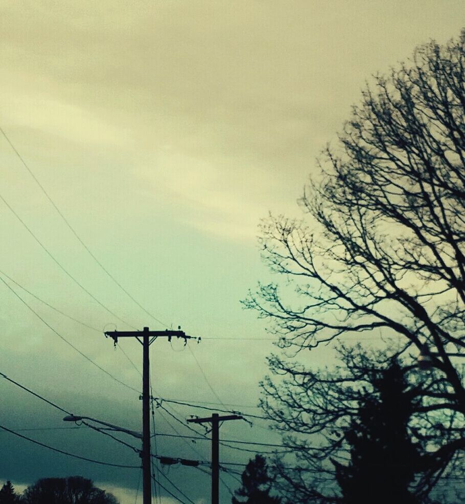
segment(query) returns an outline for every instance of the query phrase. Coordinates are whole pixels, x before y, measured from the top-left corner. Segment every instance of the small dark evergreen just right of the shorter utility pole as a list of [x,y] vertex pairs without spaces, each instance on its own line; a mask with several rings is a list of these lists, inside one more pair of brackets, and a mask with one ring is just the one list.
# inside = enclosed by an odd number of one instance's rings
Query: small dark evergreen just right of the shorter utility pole
[[270,496],[272,479],[268,474],[267,464],[264,457],[255,455],[249,461],[241,476],[242,487],[237,490],[237,497],[233,496],[233,504],[280,504],[281,499]]

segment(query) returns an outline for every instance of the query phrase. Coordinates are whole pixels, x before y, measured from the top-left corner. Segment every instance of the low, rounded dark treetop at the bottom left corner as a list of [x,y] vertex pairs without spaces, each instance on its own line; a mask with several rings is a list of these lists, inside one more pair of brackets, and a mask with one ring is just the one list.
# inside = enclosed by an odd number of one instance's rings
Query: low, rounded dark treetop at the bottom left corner
[[118,504],[117,498],[81,476],[43,478],[24,491],[24,504]]

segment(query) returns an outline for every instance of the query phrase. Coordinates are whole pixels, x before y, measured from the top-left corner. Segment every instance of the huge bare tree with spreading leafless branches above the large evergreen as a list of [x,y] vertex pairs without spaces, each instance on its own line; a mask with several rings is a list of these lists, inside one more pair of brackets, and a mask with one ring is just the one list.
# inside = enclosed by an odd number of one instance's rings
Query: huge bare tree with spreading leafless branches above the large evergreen
[[[457,427],[465,415],[465,32],[376,76],[319,164],[321,177],[300,200],[309,221],[270,216],[262,225],[263,257],[287,285],[261,284],[244,304],[297,353],[354,333],[403,337],[403,351],[439,373],[441,386],[423,390],[423,412],[454,419],[430,447],[444,466],[465,448]],[[294,379],[280,357],[270,364]]]

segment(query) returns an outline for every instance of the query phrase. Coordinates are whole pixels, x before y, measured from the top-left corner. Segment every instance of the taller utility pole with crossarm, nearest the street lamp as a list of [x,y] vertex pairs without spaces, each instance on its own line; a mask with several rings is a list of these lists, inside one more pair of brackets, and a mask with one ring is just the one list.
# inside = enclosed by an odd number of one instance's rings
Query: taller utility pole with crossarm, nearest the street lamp
[[[136,338],[143,347],[143,370],[142,370],[142,478],[143,478],[143,502],[152,504],[152,473],[150,452],[150,358],[149,346],[156,338],[166,337],[171,341],[173,336],[182,338],[185,342],[192,336],[186,336],[183,331],[108,331],[105,336],[110,336],[114,344],[118,338]],[[142,339],[141,339],[142,338]]]

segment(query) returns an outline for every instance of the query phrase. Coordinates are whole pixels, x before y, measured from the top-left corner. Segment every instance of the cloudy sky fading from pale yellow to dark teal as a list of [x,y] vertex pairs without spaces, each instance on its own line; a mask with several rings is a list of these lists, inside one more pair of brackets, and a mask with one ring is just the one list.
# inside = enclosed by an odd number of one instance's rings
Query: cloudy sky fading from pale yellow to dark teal
[[[269,278],[257,245],[261,218],[300,215],[296,200],[317,173],[315,159],[335,141],[365,82],[417,45],[457,36],[463,14],[462,0],[2,0],[0,127],[9,141],[0,135],[0,372],[67,411],[140,430],[141,346],[131,340],[114,349],[103,331],[127,330],[122,320],[141,329],[180,325],[202,341],[153,343],[157,397],[260,414],[253,406],[266,356],[278,350],[240,300]],[[31,172],[153,317],[96,264]],[[312,350],[308,364],[328,358]],[[63,428],[70,426],[62,412],[5,379],[0,385],[1,425],[83,457],[139,464],[129,448],[85,427]],[[157,408],[159,433],[192,434],[183,421],[211,413],[162,406],[182,422]],[[226,422],[221,436],[279,442],[267,427],[259,419],[252,427]],[[0,482],[21,489],[40,477],[80,474],[121,504],[142,499],[137,468],[0,436]],[[207,461],[209,448],[157,437],[162,455]],[[221,450],[223,462],[253,456]],[[208,475],[164,471],[196,504],[208,502]],[[222,478],[238,487],[230,474]],[[164,504],[176,502],[160,493]],[[222,485],[221,502],[228,501]]]

